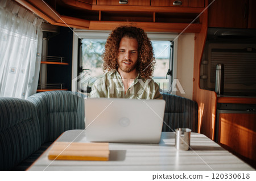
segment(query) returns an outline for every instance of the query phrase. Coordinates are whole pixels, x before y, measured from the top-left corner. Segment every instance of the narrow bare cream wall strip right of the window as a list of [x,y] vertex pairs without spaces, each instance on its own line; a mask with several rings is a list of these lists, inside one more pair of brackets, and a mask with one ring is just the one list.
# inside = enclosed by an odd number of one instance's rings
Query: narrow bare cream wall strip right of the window
[[179,36],[177,49],[177,79],[179,80],[185,94],[181,94],[179,87],[176,95],[192,99],[193,94],[193,67],[195,34],[184,33]]

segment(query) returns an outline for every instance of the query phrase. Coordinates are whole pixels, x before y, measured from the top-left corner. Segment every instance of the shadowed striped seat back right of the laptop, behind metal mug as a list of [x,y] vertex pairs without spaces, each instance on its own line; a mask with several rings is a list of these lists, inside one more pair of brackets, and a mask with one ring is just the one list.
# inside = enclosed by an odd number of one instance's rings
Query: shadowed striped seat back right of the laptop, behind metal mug
[[176,128],[190,128],[192,132],[197,132],[197,103],[181,96],[167,93],[162,95],[166,100],[166,110],[164,111],[166,124],[163,123],[162,131],[172,132]]

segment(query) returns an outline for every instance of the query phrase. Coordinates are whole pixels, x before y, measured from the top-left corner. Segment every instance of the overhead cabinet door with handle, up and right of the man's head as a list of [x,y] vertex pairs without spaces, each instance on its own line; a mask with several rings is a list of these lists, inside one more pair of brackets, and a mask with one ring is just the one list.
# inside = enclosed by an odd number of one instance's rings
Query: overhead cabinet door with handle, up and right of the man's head
[[204,7],[204,0],[151,0],[151,6]]

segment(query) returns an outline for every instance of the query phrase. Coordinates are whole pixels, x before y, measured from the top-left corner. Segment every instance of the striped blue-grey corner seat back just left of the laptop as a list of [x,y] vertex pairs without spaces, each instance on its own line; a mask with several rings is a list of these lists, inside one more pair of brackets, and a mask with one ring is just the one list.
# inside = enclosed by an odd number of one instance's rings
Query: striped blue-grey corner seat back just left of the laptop
[[47,91],[27,98],[38,111],[42,143],[55,141],[69,129],[84,129],[84,96],[71,91]]

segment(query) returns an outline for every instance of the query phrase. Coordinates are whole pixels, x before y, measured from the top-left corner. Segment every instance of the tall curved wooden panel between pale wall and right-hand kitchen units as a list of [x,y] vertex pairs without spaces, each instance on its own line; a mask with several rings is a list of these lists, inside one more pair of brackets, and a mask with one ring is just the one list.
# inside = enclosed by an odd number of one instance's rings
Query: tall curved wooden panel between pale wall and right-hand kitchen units
[[[206,2],[207,3],[207,2]],[[208,4],[205,5],[207,7]],[[198,104],[198,132],[214,139],[214,127],[216,117],[216,92],[200,89],[200,62],[203,56],[205,40],[208,28],[208,10],[201,14],[202,28],[195,34],[193,100]]]

